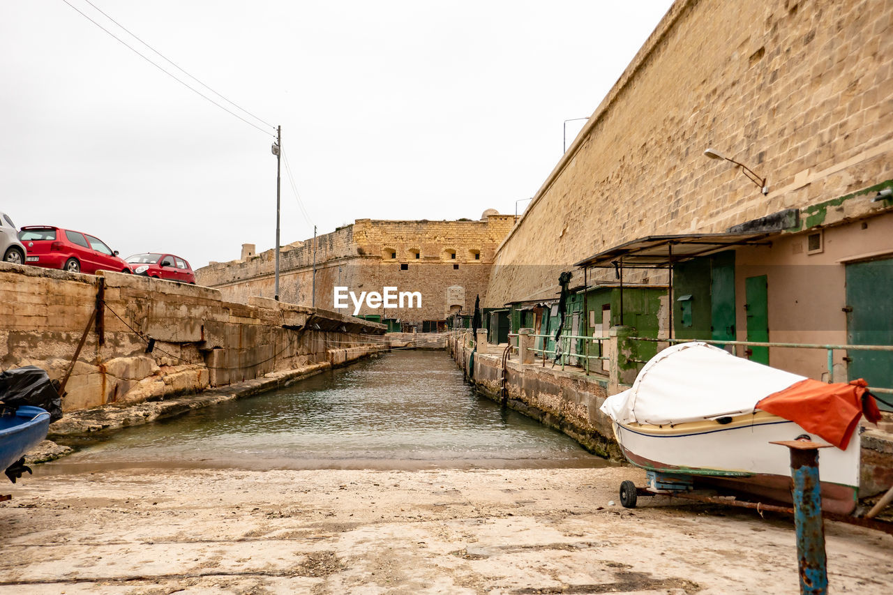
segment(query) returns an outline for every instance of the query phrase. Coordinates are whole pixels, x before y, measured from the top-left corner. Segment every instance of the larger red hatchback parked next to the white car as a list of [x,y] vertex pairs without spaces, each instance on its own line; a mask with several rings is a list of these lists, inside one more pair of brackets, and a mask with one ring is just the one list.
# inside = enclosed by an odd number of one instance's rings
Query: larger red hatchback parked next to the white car
[[28,225],[19,230],[19,241],[28,249],[25,264],[70,272],[131,272],[118,251],[94,236],[49,225]]

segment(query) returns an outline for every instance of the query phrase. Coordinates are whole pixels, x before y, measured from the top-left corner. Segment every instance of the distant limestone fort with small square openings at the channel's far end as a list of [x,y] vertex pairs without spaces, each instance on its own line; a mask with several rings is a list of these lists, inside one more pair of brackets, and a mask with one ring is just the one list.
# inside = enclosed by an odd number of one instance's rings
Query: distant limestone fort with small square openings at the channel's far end
[[[471,314],[474,300],[484,298],[497,245],[514,225],[513,215],[488,209],[479,221],[383,221],[358,219],[313,239],[280,248],[280,300],[354,314],[351,298],[336,305],[335,288],[360,298],[363,292],[418,292],[404,307],[375,306],[365,300],[357,315],[387,321],[397,328],[442,329],[452,314]],[[314,296],[315,251],[315,296]],[[212,263],[196,271],[199,285],[220,289],[226,299],[246,303],[251,296],[275,294],[275,255]]]

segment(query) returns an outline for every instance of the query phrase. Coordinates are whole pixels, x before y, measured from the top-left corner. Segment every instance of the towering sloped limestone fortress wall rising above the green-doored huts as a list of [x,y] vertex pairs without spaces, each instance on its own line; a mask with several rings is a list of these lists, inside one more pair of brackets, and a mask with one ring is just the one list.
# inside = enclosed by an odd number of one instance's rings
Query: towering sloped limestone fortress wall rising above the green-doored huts
[[891,19],[883,0],[673,4],[499,247],[486,305],[554,291],[557,271],[632,239],[889,180]]

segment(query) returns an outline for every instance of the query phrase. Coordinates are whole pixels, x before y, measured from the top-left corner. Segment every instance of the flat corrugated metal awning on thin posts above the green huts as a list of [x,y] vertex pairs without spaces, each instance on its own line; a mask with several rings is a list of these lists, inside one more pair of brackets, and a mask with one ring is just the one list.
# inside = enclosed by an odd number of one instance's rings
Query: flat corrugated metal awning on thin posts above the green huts
[[647,236],[634,239],[581,260],[574,266],[611,268],[622,263],[624,268],[658,268],[707,256],[737,246],[768,246],[767,238],[778,233],[691,233],[673,236]]

